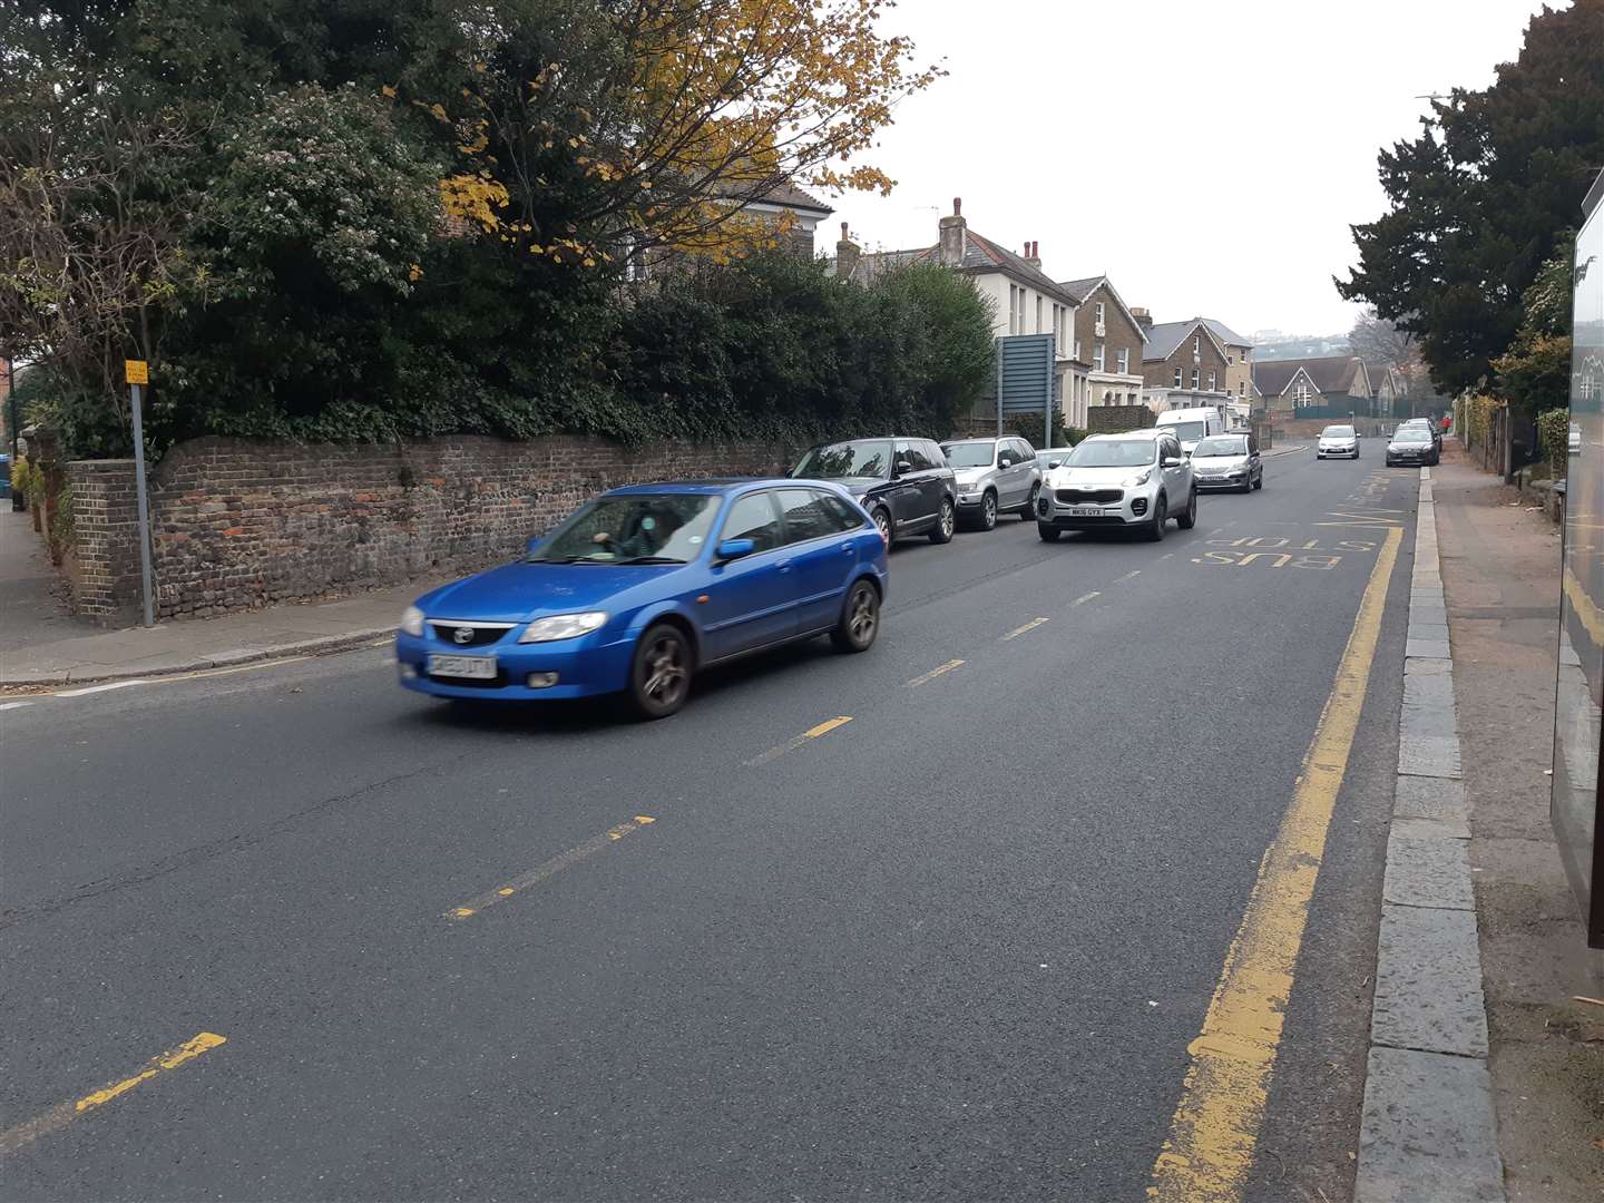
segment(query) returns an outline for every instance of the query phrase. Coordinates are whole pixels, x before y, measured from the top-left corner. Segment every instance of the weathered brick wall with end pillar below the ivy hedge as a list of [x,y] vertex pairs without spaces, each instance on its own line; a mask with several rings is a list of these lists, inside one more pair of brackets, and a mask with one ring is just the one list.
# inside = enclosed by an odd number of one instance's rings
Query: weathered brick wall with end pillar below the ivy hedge
[[[621,448],[590,438],[449,438],[287,444],[202,438],[151,472],[157,616],[212,616],[468,573],[516,555],[610,488],[768,475],[765,444]],[[72,584],[82,613],[127,618],[140,600],[132,460],[79,460]]]

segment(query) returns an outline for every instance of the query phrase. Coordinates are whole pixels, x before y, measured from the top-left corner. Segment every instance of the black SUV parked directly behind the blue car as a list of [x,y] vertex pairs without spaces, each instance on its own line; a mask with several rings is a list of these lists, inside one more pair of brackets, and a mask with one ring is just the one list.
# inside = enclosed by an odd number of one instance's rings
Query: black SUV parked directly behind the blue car
[[945,544],[958,521],[958,484],[942,449],[927,438],[855,438],[813,448],[791,470],[850,489],[890,547],[909,534]]

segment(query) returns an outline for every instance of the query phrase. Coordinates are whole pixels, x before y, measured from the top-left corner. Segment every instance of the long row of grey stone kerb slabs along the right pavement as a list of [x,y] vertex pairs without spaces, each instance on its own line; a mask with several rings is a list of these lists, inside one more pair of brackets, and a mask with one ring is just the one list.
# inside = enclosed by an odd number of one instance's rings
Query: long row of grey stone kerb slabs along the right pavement
[[1431,468],[1421,468],[1355,1203],[1503,1203]]

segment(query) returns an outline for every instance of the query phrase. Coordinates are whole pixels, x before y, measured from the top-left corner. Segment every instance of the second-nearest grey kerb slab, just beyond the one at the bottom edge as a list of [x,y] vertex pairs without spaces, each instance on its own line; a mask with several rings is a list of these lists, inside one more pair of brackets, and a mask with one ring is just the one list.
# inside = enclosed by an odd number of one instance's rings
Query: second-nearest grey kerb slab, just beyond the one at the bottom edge
[[1474,911],[1383,905],[1370,1043],[1456,1057],[1487,1055]]

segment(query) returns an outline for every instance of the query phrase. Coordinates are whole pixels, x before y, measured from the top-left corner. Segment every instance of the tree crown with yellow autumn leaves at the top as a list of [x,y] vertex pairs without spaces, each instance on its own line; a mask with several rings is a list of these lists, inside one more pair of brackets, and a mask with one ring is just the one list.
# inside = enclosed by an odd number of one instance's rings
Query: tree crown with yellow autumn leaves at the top
[[[457,79],[393,91],[433,114],[460,154],[462,215],[512,253],[592,269],[654,247],[725,258],[772,233],[741,202],[784,183],[890,191],[844,164],[942,72],[879,32],[889,6],[499,0],[467,30]],[[473,181],[507,204],[481,204]]]

